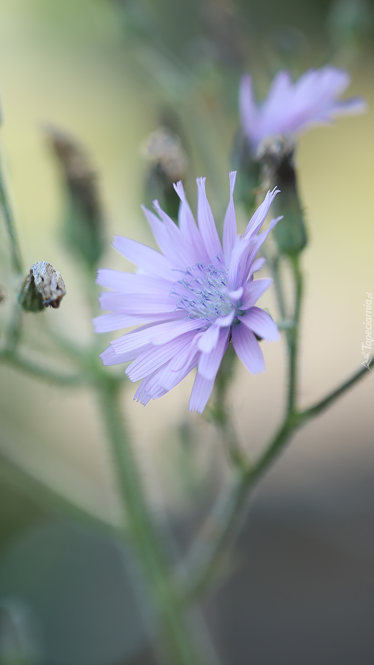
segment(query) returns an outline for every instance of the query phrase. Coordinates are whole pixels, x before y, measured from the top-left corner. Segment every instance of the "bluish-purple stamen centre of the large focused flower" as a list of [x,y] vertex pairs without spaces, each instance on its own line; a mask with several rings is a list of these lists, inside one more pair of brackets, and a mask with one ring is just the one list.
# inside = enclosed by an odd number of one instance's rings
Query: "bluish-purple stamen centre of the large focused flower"
[[192,268],[187,267],[184,277],[170,291],[170,297],[177,299],[175,311],[187,311],[186,319],[200,317],[211,323],[212,317],[226,317],[236,309],[229,296],[227,270],[220,252],[213,261],[216,263],[205,265],[199,261]]

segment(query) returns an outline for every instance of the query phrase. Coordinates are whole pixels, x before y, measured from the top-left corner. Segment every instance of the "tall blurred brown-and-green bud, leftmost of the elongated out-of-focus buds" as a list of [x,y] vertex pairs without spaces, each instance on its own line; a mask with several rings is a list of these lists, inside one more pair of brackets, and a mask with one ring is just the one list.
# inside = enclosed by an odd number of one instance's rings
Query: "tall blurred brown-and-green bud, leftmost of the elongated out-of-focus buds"
[[98,175],[86,150],[75,138],[53,126],[44,130],[62,167],[66,190],[66,242],[89,267],[95,267],[104,250],[104,215],[98,194]]

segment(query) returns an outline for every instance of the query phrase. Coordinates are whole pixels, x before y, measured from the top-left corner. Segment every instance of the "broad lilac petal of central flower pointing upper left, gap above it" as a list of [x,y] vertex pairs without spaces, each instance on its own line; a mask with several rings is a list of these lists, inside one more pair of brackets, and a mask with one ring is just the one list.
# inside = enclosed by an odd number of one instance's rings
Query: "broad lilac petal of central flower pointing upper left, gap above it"
[[173,269],[178,266],[171,263],[167,257],[160,254],[155,249],[138,243],[131,238],[125,238],[122,235],[115,235],[112,243],[114,249],[117,249],[126,259],[135,263],[147,273],[152,273],[162,279],[171,279]]

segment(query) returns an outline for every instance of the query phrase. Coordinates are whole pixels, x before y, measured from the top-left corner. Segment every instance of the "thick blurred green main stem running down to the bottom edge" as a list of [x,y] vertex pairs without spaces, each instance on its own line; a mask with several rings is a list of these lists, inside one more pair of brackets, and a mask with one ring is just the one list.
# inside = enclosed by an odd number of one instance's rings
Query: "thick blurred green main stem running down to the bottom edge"
[[159,538],[145,503],[140,474],[122,418],[120,388],[116,380],[107,377],[100,386],[99,398],[117,475],[118,491],[126,511],[128,533],[141,559],[157,606],[168,662],[173,665],[198,665],[201,660],[191,644],[183,602],[171,581]]

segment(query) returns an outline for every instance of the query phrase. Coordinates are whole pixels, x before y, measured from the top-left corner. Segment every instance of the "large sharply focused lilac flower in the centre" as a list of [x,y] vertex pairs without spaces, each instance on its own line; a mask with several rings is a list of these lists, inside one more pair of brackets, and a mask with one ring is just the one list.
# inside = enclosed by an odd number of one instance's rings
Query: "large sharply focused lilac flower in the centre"
[[253,279],[264,265],[264,259],[255,260],[258,249],[278,221],[273,219],[259,235],[278,190],[266,194],[243,237],[237,237],[235,178],[236,172],[231,173],[222,244],[205,178],[197,179],[198,225],[178,182],[174,187],[181,199],[179,226],[158,201],[153,201],[158,217],[143,207],[161,253],[117,235],[113,246],[138,265],[139,272],[98,271],[98,284],[114,292],[100,295],[100,307],[111,313],[94,319],[96,332],[141,326],[111,342],[100,357],[104,365],[133,361],[126,374],[131,381],[142,379],[134,396],[141,404],[169,392],[197,366],[189,408],[201,413],[231,337],[252,374],[265,368],[256,335],[268,341],[279,338],[272,318],[254,307],[272,280]]

